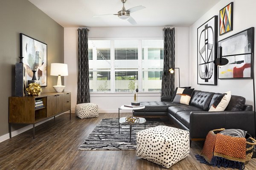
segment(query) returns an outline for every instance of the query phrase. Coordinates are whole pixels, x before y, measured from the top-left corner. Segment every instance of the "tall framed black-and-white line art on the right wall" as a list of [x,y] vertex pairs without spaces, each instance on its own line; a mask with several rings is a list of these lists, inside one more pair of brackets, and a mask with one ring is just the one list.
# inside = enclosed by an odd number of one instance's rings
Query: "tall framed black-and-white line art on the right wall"
[[214,16],[198,28],[198,84],[217,85],[218,16]]

